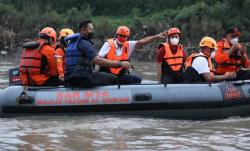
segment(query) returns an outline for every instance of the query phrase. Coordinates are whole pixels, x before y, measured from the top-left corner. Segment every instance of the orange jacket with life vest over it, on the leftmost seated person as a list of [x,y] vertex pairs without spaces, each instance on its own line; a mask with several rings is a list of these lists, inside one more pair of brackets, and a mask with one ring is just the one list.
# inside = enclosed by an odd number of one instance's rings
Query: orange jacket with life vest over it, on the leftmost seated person
[[43,40],[39,47],[23,49],[20,77],[23,85],[43,85],[50,77],[58,76],[55,50]]

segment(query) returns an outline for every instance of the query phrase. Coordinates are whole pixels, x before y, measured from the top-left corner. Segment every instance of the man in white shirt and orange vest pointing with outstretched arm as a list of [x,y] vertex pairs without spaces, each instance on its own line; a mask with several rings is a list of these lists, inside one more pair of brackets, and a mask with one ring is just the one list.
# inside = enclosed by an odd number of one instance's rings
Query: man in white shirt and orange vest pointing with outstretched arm
[[[99,56],[107,58],[113,61],[125,61],[129,60],[131,54],[136,48],[141,48],[156,39],[165,38],[164,33],[146,37],[138,41],[128,41],[130,37],[130,30],[126,26],[118,27],[116,31],[116,38],[109,39],[102,46]],[[121,62],[120,62],[121,63]],[[120,84],[139,84],[141,83],[141,77],[128,74],[128,71],[124,68],[107,68],[100,66],[101,72],[112,73],[119,78]]]

